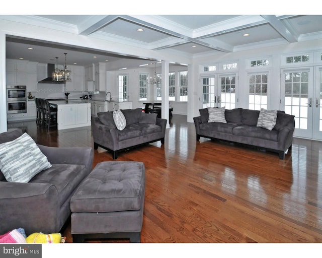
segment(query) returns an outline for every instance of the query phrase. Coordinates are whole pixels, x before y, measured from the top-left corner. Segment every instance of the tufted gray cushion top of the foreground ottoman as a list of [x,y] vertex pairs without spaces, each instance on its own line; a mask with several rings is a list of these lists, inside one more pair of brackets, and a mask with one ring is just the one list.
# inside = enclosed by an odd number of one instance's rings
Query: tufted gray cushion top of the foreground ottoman
[[142,162],[98,163],[70,201],[71,212],[140,210],[144,201],[145,167]]

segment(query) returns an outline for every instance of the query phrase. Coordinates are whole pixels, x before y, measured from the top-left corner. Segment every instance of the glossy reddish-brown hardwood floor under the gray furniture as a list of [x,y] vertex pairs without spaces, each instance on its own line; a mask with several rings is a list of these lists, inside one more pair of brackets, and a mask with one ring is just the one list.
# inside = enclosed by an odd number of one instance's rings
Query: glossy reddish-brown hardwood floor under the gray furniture
[[[119,155],[146,167],[141,242],[322,242],[322,142],[295,138],[280,160],[277,153],[196,142],[186,119],[173,116],[165,145]],[[43,145],[93,147],[90,127],[48,131],[35,121],[9,127],[23,127]],[[94,153],[94,166],[112,161],[101,148]],[[63,234],[72,241],[70,228]]]

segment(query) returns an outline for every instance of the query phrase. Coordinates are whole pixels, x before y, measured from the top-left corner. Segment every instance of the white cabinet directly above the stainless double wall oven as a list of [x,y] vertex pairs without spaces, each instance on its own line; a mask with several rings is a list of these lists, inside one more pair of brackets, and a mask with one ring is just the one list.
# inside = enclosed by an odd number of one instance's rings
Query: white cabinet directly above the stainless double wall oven
[[6,59],[6,84],[26,85],[27,64],[28,61],[25,60]]

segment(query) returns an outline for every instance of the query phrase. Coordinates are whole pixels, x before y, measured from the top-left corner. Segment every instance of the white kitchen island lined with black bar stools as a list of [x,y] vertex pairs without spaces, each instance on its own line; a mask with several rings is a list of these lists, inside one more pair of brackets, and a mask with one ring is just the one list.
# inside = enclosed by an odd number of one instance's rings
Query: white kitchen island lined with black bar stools
[[57,129],[69,129],[91,126],[91,102],[69,100],[49,100],[49,104],[57,107]]

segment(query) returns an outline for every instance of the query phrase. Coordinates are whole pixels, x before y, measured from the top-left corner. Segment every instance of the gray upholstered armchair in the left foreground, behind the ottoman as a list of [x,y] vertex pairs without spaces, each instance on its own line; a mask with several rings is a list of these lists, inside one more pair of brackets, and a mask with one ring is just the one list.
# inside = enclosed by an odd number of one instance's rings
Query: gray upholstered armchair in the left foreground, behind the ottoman
[[[0,134],[0,144],[22,135],[20,129]],[[70,199],[91,172],[90,147],[55,148],[38,145],[51,167],[29,182],[8,182],[0,171],[0,235],[22,227],[26,234],[58,233],[70,217]]]

